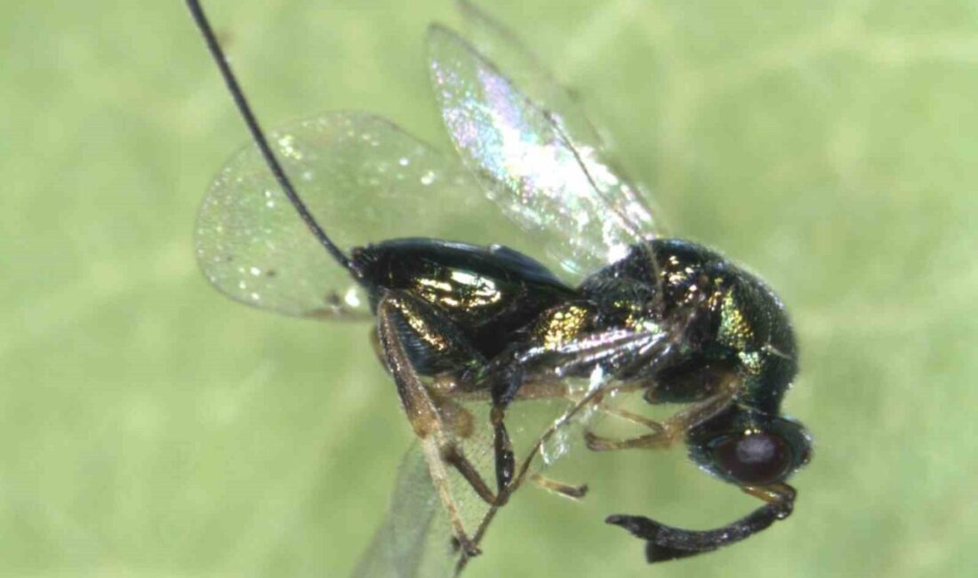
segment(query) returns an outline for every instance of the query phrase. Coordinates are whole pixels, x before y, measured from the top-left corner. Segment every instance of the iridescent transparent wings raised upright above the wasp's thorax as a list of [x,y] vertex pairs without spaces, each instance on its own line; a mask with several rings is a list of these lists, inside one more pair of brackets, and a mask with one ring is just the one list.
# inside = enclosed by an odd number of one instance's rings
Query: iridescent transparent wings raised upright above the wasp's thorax
[[651,211],[607,160],[577,104],[504,28],[464,6],[469,20],[479,23],[480,48],[522,81],[517,85],[454,32],[430,28],[435,98],[456,149],[488,197],[577,278],[648,239]]

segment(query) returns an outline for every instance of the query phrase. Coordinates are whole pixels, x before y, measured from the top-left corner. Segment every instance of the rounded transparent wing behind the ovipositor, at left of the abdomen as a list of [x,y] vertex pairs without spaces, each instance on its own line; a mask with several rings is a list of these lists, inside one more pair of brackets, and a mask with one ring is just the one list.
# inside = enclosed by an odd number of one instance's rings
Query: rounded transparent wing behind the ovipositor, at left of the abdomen
[[[531,242],[454,156],[364,112],[295,121],[269,134],[312,214],[344,248],[399,237],[474,244]],[[248,305],[289,315],[367,318],[366,295],[315,240],[248,146],[227,162],[200,208],[207,279]]]

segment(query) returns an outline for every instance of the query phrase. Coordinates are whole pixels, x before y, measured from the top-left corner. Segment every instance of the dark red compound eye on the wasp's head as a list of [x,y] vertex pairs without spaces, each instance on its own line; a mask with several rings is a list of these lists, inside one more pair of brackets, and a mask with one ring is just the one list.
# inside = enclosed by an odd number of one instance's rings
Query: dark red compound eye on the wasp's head
[[770,433],[729,437],[713,448],[717,464],[737,481],[765,485],[778,481],[791,467],[791,448]]

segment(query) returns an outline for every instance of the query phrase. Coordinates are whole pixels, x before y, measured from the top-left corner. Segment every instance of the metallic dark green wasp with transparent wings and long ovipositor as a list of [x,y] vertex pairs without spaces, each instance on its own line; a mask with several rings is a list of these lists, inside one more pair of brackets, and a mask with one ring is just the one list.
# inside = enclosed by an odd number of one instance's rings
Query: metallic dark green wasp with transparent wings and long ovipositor
[[[641,430],[612,438],[586,428],[588,449],[685,443],[697,466],[762,501],[709,531],[608,516],[645,540],[650,562],[716,550],[792,511],[786,480],[809,462],[811,436],[780,410],[798,365],[784,305],[719,252],[663,235],[576,98],[509,30],[467,2],[471,42],[429,28],[431,85],[456,153],[443,156],[367,112],[266,136],[200,3],[188,5],[253,140],[200,209],[201,268],[248,305],[373,323],[460,569],[545,442],[585,410]],[[570,396],[563,384],[582,380],[585,393]],[[685,407],[653,421],[616,409],[619,393]],[[517,460],[511,405],[549,397],[573,403]],[[482,425],[488,473],[467,449]],[[487,505],[474,533],[452,480]],[[402,518],[412,507],[395,504]]]

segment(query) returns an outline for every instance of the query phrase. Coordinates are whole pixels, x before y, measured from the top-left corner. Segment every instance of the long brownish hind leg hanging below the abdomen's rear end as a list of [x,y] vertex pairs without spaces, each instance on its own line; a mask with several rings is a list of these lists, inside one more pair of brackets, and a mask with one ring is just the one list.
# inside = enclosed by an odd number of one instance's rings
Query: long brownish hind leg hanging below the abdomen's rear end
[[[463,455],[462,448],[452,433],[453,427],[445,421],[439,400],[428,391],[416,366],[417,358],[428,353],[424,351],[425,345],[433,343],[451,355],[466,349],[467,344],[449,343],[444,334],[430,333],[433,324],[426,322],[438,324],[440,320],[436,320],[430,311],[424,311],[417,299],[410,295],[386,291],[378,302],[377,311],[380,352],[397,385],[397,393],[408,421],[421,440],[431,482],[448,512],[452,532],[460,547],[467,556],[476,556],[479,550],[467,536],[458,506],[452,497],[445,466],[455,467],[486,502],[494,503],[496,497]],[[418,341],[422,343],[419,344]]]

